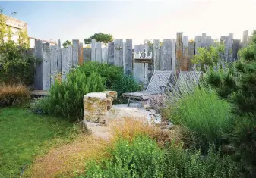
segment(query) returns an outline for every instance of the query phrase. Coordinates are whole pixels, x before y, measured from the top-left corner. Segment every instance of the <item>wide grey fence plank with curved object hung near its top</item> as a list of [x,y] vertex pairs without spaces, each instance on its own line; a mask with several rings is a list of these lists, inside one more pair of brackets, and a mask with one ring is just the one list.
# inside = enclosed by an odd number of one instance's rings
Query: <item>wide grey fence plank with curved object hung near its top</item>
[[123,67],[123,42],[122,39],[114,41],[114,64],[115,66]]

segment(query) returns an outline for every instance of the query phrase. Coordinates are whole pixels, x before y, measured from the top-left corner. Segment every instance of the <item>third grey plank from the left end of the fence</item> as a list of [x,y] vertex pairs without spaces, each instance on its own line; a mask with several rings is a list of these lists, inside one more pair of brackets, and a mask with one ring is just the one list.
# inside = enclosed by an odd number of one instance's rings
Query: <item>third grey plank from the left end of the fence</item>
[[58,73],[58,46],[50,46],[50,63],[51,63],[51,85],[54,84],[55,77]]

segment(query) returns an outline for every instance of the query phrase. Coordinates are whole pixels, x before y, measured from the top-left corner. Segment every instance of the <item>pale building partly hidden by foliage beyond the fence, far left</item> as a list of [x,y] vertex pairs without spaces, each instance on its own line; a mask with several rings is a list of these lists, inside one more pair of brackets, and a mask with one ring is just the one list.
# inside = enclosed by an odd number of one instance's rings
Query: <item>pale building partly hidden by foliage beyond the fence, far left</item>
[[[27,23],[25,23],[24,21],[21,20],[17,20],[13,17],[6,17],[6,25],[8,27],[11,27],[11,31],[13,32],[13,36],[12,36],[12,40],[14,40],[14,42],[17,42],[17,39],[19,38],[19,36],[17,35],[18,30],[27,30]],[[27,32],[28,36],[29,32]],[[34,48],[35,47],[35,42],[36,40],[42,40],[42,39],[36,39],[33,37],[29,37],[30,38],[30,48]],[[43,43],[49,43],[50,45],[57,45],[56,42],[52,41],[52,40],[42,40]]]

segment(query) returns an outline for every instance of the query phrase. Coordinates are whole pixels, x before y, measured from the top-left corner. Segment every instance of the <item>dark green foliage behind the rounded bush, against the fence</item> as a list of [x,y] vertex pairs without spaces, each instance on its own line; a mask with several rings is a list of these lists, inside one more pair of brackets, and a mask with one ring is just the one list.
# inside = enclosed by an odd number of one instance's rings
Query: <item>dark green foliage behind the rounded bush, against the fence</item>
[[93,72],[99,73],[101,77],[106,79],[106,88],[118,92],[119,98],[124,92],[141,90],[141,86],[136,83],[133,77],[124,74],[122,67],[88,61],[83,66],[77,67],[77,70],[87,76]]

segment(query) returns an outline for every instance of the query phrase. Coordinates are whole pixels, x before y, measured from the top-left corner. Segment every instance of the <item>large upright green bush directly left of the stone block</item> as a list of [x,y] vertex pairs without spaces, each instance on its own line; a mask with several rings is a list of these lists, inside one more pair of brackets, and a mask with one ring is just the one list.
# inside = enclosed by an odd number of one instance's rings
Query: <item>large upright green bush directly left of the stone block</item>
[[90,76],[87,77],[80,70],[74,70],[68,73],[66,81],[62,81],[62,83],[55,81],[49,90],[48,98],[37,105],[42,108],[42,112],[60,115],[70,120],[81,120],[84,113],[84,95],[104,90],[104,80],[98,73],[90,73]]

